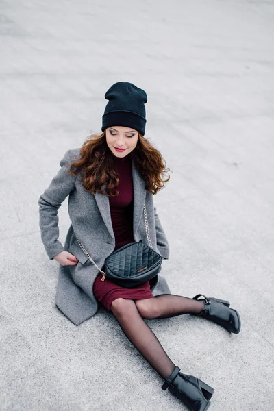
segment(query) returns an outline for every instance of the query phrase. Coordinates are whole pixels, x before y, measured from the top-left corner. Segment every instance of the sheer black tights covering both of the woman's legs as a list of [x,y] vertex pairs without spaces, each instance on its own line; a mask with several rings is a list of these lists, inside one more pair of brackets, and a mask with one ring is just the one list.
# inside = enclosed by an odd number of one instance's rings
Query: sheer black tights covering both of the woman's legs
[[143,319],[161,319],[186,313],[199,314],[203,307],[202,301],[163,294],[135,301],[119,298],[113,301],[110,310],[129,341],[153,369],[166,379],[175,369],[175,364]]

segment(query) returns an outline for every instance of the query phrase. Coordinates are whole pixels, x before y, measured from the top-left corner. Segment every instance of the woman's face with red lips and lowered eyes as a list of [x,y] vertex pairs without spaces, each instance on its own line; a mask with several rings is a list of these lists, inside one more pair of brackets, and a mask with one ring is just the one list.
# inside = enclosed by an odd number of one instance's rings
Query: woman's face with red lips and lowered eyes
[[108,147],[115,157],[123,158],[135,149],[138,132],[129,127],[114,125],[105,129],[105,137]]

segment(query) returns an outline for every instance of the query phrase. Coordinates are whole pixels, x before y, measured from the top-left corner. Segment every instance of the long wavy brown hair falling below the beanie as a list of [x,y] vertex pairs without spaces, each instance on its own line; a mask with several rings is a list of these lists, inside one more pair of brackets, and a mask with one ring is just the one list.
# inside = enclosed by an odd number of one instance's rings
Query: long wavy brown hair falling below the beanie
[[[138,133],[138,138],[135,149],[129,155],[145,180],[145,188],[154,195],[169,181],[170,176],[166,177],[166,173],[170,169],[166,169],[166,162],[158,149],[155,149],[142,134]],[[119,191],[115,190],[119,175],[113,167],[113,154],[108,147],[105,132],[88,136],[82,145],[80,158],[75,159],[70,168],[72,175],[80,172],[84,188],[92,194],[100,192],[110,197],[119,194]]]

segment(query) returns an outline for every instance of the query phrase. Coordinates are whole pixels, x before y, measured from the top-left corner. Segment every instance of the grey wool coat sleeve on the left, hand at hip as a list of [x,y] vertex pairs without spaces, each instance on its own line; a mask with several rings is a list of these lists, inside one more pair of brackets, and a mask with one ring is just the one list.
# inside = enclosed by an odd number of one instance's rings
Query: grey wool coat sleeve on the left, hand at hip
[[69,150],[60,161],[61,169],[53,177],[51,184],[40,196],[39,223],[42,242],[50,259],[64,250],[59,238],[58,209],[62,202],[75,188],[76,176],[69,174],[71,165],[71,151]]

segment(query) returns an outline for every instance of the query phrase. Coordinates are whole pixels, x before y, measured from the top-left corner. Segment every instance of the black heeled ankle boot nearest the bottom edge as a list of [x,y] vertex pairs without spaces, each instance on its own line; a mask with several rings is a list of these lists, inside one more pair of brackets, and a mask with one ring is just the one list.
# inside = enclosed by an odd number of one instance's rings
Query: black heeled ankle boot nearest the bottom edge
[[165,380],[162,389],[169,388],[171,394],[179,398],[190,411],[208,410],[214,389],[201,379],[181,374],[179,371],[179,367],[176,366],[169,378]]

